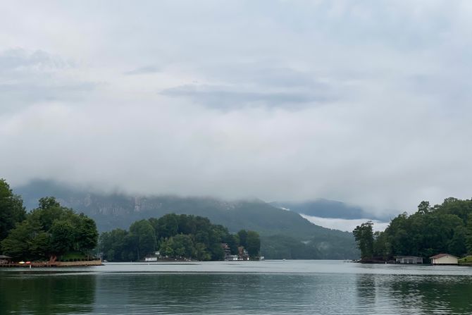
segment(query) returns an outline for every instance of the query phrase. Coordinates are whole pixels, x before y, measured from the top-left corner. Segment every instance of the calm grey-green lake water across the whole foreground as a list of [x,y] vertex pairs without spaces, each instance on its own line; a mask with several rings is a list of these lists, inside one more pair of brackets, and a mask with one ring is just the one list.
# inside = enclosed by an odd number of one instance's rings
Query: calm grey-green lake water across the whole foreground
[[472,268],[342,261],[2,268],[0,314],[472,314]]

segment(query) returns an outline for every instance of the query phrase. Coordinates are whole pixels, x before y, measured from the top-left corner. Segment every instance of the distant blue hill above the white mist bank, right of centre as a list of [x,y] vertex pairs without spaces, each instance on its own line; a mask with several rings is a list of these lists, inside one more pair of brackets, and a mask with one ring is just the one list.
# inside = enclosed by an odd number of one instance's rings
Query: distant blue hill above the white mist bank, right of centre
[[344,202],[328,199],[316,199],[307,202],[271,202],[271,205],[281,209],[290,209],[298,214],[318,216],[320,218],[344,218],[344,219],[389,219],[388,217],[375,216],[359,206],[352,206]]

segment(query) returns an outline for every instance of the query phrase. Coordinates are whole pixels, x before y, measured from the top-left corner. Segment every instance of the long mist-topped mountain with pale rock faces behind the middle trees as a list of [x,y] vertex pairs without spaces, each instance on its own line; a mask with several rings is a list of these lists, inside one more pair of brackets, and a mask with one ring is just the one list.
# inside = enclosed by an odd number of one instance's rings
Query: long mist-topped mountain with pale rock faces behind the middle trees
[[268,259],[354,259],[359,252],[352,233],[316,226],[294,211],[285,211],[259,199],[225,201],[212,197],[132,196],[104,194],[35,180],[15,187],[27,209],[40,197],[54,196],[61,204],[94,218],[100,231],[128,228],[142,218],[168,213],[206,216],[230,232],[241,229],[261,234],[261,252]]

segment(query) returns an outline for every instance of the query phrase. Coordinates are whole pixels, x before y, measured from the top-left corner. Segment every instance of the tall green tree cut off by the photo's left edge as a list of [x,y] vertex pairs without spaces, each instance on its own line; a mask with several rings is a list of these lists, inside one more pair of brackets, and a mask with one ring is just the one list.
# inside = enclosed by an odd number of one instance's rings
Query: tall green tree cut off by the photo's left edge
[[26,211],[20,196],[13,194],[6,180],[0,179],[0,241],[25,219]]

